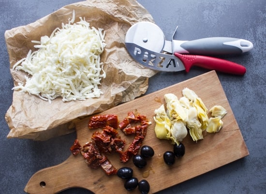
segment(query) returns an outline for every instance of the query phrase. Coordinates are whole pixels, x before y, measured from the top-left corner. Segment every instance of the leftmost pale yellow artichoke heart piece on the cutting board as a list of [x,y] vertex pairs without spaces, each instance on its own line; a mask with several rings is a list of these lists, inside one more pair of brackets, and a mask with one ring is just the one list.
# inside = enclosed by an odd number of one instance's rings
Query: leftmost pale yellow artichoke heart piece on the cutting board
[[154,111],[155,116],[153,117],[155,125],[155,134],[158,139],[169,139],[171,136],[172,123],[167,116],[164,105],[162,104],[159,109]]

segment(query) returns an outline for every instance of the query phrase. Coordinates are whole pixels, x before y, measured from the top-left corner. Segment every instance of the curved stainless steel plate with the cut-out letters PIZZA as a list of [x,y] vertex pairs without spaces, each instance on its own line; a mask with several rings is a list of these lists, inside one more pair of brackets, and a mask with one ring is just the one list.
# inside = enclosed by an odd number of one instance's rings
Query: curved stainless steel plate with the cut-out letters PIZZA
[[168,72],[185,70],[183,63],[174,55],[154,52],[134,43],[125,44],[134,60],[150,69]]

